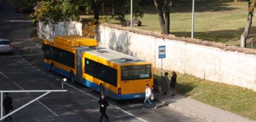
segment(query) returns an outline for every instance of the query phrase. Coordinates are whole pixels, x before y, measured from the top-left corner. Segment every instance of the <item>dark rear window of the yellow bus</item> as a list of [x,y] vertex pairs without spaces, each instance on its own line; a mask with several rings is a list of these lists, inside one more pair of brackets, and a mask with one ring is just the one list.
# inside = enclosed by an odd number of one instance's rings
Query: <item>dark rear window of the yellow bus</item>
[[121,66],[121,80],[151,79],[151,64]]

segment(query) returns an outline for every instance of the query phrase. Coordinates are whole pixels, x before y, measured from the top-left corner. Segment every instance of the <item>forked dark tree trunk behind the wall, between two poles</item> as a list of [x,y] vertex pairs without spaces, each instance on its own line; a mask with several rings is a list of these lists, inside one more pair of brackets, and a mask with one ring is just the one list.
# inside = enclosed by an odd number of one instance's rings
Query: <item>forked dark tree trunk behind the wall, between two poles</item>
[[170,31],[170,12],[168,8],[168,0],[164,0],[164,12],[165,12],[165,18],[163,15],[163,11],[161,8],[161,5],[159,5],[159,1],[161,0],[153,0],[154,4],[156,6],[157,14],[158,14],[158,20],[161,25],[162,33],[165,35],[169,35]]

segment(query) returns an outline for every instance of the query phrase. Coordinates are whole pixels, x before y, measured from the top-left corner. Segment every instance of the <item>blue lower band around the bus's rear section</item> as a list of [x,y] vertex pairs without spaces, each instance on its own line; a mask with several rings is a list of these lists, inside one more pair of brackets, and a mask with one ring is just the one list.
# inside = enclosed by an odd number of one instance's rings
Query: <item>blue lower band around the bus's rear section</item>
[[[100,92],[100,85],[95,84],[89,80],[83,79],[83,85],[86,85],[90,88],[92,88],[93,90]],[[107,88],[105,88],[106,91]],[[106,93],[106,92],[105,92]],[[134,95],[138,95],[137,97],[134,97]],[[114,92],[111,91],[111,96],[109,96],[113,99],[134,99],[134,98],[145,98],[145,93],[136,93],[136,94],[116,94]]]

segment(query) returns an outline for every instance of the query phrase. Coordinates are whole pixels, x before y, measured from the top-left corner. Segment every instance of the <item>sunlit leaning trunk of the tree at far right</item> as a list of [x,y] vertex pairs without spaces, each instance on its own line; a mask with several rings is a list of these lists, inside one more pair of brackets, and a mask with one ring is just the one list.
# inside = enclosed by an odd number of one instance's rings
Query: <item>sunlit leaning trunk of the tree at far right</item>
[[[250,3],[248,2],[249,6],[250,6]],[[249,31],[250,31],[250,28],[251,28],[251,25],[252,25],[252,16],[253,16],[253,13],[252,12],[249,12],[248,13],[248,19],[247,19],[247,24],[246,24],[246,28],[244,29],[243,31],[243,34],[241,35],[241,38],[240,38],[240,46],[241,47],[246,47],[246,39],[249,35]]]

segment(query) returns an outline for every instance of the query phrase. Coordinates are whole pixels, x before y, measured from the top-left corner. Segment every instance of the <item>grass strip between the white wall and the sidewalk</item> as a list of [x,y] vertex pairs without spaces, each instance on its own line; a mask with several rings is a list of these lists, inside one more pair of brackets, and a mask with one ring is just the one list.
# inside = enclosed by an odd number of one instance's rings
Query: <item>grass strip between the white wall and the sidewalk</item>
[[[163,71],[171,74],[172,71]],[[170,76],[168,76],[170,77]],[[161,69],[154,69],[154,79],[161,85]],[[202,103],[256,120],[256,92],[239,86],[203,80],[177,73],[176,91]],[[200,95],[195,95],[201,93]]]

